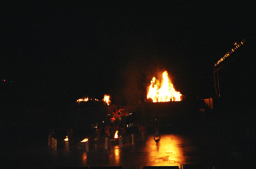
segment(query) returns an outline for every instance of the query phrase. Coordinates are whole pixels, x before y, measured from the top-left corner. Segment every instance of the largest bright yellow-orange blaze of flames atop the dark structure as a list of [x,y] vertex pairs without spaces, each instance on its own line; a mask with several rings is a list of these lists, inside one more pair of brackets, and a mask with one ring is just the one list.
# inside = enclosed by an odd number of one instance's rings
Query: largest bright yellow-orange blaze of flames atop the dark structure
[[[160,87],[160,85],[162,86]],[[182,94],[173,88],[167,71],[164,71],[161,83],[156,82],[155,77],[152,78],[147,98],[151,98],[153,102],[169,102],[171,99],[172,101],[180,101],[181,96]]]

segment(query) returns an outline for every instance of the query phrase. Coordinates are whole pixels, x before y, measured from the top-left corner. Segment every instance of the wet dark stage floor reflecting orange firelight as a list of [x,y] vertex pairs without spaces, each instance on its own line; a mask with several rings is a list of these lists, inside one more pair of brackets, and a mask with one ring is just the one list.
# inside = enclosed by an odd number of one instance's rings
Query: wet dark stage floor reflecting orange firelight
[[161,139],[148,133],[141,141],[131,134],[119,141],[109,140],[105,149],[105,137],[95,141],[90,138],[89,151],[77,146],[77,138],[69,151],[59,142],[57,150],[47,143],[5,146],[1,149],[1,168],[54,168],[83,166],[179,166],[179,168],[244,168],[252,165],[253,159],[245,151],[235,151],[231,145],[218,138],[217,134],[172,134],[161,133]]

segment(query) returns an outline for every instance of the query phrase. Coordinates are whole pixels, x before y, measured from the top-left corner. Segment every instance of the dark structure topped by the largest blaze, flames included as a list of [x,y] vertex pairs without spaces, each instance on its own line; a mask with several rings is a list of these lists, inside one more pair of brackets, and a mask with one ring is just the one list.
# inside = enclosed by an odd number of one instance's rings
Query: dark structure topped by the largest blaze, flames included
[[[152,123],[154,125],[154,118],[162,121],[162,124],[174,123],[172,120],[181,118],[182,113],[187,110],[183,101],[184,95],[175,90],[174,85],[168,77],[167,71],[162,73],[162,78],[157,80],[152,78],[151,84],[147,88],[147,100],[145,102],[134,103],[133,105],[119,106],[122,111],[124,121],[128,126],[132,122]],[[111,115],[116,105],[108,106],[108,114]],[[185,116],[185,115],[184,115]]]

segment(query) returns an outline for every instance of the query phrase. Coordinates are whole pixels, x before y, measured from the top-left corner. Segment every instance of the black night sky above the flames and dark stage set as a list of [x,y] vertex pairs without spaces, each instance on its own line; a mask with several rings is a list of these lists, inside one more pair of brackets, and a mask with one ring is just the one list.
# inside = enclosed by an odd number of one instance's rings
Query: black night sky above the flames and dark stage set
[[127,103],[145,97],[151,78],[164,70],[182,94],[209,97],[213,63],[256,27],[255,4],[0,5],[1,79],[13,81],[12,87],[1,83],[1,100],[10,93],[27,106],[105,93]]

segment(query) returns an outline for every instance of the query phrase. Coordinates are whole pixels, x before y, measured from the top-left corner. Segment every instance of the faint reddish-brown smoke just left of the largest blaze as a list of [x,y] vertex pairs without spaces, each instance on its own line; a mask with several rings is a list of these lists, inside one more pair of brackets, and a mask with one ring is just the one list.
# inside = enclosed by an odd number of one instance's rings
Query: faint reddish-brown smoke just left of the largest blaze
[[[163,70],[164,64],[161,56],[149,52],[133,53],[124,63],[125,66],[118,69],[118,94],[121,104],[134,104],[146,102],[148,79],[154,72]],[[150,59],[148,59],[150,58]],[[116,97],[113,97],[113,101]]]

